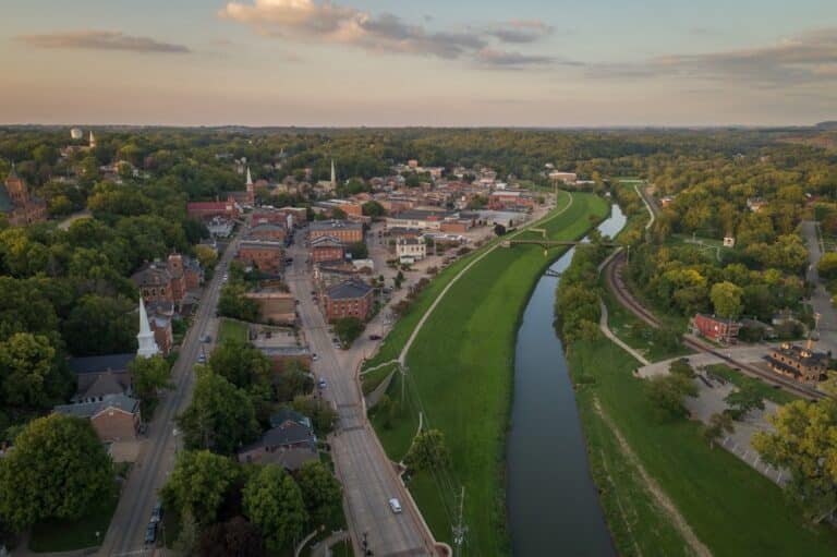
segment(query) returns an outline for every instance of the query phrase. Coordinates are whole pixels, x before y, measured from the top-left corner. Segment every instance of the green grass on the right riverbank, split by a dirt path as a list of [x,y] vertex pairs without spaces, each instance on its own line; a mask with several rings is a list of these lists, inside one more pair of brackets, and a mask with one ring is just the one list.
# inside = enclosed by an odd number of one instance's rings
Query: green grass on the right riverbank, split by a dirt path
[[[623,555],[684,555],[684,542],[626,465],[594,397],[618,424],[648,474],[715,556],[834,555],[837,533],[813,526],[774,483],[700,438],[700,424],[660,424],[652,415],[633,359],[606,339],[577,342],[568,354],[587,451],[603,507]],[[639,548],[639,550],[638,550]]]

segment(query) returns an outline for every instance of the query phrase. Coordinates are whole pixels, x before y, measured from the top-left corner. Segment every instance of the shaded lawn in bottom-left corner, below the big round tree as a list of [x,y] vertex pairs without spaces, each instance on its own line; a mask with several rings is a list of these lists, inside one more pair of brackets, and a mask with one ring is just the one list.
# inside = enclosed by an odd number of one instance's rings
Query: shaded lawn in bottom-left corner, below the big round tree
[[[85,517],[35,524],[32,526],[29,549],[37,553],[70,552],[99,545],[105,538],[118,502],[119,492],[114,487],[111,496],[96,499],[90,512]],[[99,536],[96,536],[96,532]]]

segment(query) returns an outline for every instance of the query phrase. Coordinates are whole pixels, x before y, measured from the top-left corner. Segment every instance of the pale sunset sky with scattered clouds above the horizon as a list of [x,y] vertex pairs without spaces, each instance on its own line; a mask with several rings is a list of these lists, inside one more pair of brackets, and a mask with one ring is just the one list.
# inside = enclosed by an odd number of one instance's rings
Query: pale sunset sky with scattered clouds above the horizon
[[806,125],[835,0],[0,0],[0,123]]

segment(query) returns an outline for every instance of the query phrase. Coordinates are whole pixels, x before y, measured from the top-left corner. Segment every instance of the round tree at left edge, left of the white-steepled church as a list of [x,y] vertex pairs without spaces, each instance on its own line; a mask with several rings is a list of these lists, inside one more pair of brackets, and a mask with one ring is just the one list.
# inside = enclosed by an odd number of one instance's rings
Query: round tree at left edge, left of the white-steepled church
[[0,396],[3,405],[26,410],[52,408],[72,378],[43,335],[17,332],[0,342]]

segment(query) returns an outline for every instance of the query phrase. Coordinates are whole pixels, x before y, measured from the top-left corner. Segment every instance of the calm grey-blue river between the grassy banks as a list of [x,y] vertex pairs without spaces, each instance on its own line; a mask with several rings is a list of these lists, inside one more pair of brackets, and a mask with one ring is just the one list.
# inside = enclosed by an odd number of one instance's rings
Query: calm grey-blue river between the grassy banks
[[[612,205],[598,230],[614,237],[626,220]],[[573,253],[550,268],[563,271]],[[513,555],[615,556],[590,475],[563,347],[553,327],[558,280],[541,277],[518,330],[507,453]]]

